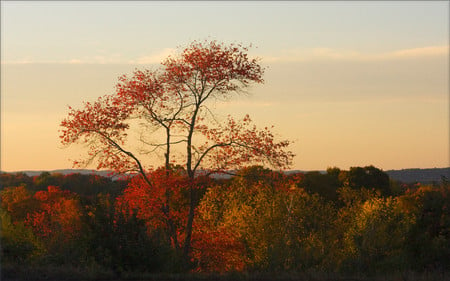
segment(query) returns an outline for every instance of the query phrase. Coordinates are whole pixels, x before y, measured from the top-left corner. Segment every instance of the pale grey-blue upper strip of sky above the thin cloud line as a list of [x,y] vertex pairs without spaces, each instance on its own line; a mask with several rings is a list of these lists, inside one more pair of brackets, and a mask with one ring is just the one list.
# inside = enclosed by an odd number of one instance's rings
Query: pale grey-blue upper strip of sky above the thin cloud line
[[448,43],[445,1],[11,1],[2,13],[6,62],[107,55],[128,62],[208,36],[251,42],[262,53],[317,47],[388,52]]

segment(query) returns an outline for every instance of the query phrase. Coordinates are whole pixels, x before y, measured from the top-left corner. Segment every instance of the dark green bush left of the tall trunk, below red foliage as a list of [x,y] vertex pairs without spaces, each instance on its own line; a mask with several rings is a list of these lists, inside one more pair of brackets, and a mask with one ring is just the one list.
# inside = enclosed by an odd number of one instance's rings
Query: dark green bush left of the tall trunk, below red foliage
[[88,206],[88,256],[116,274],[124,271],[169,271],[174,264],[172,248],[159,233],[149,233],[147,222],[127,215],[110,194],[98,194]]

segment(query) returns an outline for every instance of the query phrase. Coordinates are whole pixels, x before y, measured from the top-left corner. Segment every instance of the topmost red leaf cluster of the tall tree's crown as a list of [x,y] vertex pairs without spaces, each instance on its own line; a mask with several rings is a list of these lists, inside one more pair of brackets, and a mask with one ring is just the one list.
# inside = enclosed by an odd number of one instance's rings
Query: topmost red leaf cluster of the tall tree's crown
[[[264,69],[258,59],[249,59],[248,48],[217,41],[194,41],[180,56],[167,58],[165,79],[177,90],[202,93],[213,89],[222,95],[239,91],[249,83],[262,83]],[[208,92],[207,94],[210,94]]]

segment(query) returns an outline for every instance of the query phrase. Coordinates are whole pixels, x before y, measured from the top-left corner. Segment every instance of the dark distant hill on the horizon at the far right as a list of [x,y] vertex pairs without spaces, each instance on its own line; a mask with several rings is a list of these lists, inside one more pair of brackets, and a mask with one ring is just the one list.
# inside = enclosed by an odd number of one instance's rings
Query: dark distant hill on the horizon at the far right
[[450,180],[450,167],[432,169],[388,170],[385,172],[391,179],[401,181],[403,183],[439,183],[442,181],[443,177],[445,177],[447,180]]

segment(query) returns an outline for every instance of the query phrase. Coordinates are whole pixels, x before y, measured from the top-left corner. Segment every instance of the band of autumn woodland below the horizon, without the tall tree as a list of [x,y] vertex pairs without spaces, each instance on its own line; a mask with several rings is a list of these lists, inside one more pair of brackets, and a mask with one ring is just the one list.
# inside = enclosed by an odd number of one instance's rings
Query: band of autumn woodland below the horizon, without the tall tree
[[161,208],[167,182],[157,182],[165,179],[165,170],[149,177],[153,188],[139,174],[112,180],[94,174],[2,173],[2,279],[446,276],[450,270],[445,178],[434,185],[404,184],[373,166],[291,174],[249,166],[226,179],[198,177],[186,266],[170,235],[173,226],[175,237],[184,239],[186,171],[172,169],[171,225]]

